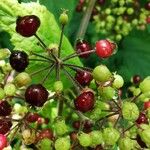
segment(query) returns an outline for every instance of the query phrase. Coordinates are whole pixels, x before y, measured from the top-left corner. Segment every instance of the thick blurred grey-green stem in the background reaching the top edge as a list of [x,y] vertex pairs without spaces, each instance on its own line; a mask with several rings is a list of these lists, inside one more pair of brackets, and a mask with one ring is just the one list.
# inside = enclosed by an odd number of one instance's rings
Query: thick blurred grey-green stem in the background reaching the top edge
[[94,8],[95,3],[96,3],[96,0],[91,0],[89,2],[89,5],[88,5],[88,7],[84,13],[83,19],[81,21],[76,39],[81,39],[81,38],[83,39],[84,38],[84,35],[86,33],[86,30],[87,30],[87,27],[89,24],[89,20],[90,20],[91,14],[92,14],[92,10]]

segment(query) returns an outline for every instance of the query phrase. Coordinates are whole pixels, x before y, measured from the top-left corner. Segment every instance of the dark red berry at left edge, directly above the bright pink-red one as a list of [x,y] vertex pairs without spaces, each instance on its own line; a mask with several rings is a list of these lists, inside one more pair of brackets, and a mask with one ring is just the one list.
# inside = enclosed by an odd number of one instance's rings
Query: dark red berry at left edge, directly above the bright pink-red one
[[12,126],[11,121],[0,119],[0,134],[6,134]]

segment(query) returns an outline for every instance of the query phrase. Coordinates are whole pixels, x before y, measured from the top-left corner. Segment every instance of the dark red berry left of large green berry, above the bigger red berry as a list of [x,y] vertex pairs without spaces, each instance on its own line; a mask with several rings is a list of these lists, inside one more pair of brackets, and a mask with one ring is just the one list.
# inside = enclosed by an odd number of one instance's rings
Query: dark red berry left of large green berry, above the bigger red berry
[[92,81],[93,77],[91,73],[87,71],[77,71],[75,75],[75,79],[82,85],[86,86],[89,85]]

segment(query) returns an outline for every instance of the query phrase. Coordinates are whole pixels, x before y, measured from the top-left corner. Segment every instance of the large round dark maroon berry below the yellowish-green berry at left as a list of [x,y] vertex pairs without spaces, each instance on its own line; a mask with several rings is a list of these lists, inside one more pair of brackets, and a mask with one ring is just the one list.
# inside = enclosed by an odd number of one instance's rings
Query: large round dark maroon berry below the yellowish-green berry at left
[[41,84],[32,84],[25,91],[25,100],[29,104],[42,107],[48,99],[48,91]]

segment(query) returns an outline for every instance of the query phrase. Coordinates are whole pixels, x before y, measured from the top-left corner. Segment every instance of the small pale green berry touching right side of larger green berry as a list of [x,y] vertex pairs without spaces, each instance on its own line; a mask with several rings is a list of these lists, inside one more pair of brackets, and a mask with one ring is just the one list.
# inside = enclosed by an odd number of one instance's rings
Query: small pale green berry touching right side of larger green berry
[[123,86],[123,84],[124,84],[124,80],[123,80],[122,76],[115,74],[112,86],[116,89],[120,89]]

